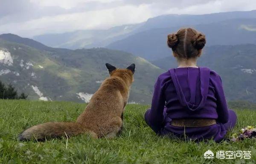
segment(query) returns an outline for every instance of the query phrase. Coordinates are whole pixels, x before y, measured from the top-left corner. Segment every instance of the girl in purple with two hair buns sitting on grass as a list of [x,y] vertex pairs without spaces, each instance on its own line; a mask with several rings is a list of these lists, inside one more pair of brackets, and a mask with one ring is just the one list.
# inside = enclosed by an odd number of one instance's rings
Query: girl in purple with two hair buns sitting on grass
[[167,43],[178,67],[158,77],[146,123],[159,135],[221,141],[237,117],[227,107],[220,76],[197,66],[205,36],[195,29],[180,29],[168,35]]

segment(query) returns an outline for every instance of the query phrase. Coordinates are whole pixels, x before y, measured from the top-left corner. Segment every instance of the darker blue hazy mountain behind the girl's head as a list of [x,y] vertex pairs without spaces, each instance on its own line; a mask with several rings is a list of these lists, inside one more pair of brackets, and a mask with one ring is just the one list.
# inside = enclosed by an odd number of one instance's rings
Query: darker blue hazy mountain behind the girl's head
[[[256,18],[224,20],[191,27],[206,35],[207,46],[256,44]],[[150,29],[113,42],[106,47],[131,52],[147,60],[165,58],[172,53],[166,43],[167,35],[178,29],[180,26]]]

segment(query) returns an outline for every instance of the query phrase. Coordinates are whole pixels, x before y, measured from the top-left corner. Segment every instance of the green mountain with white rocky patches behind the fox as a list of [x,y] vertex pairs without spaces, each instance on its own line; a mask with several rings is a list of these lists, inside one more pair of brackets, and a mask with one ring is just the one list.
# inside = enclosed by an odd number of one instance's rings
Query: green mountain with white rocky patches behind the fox
[[105,48],[58,49],[17,35],[0,35],[0,81],[12,83],[29,99],[88,101],[108,77],[105,63],[119,68],[136,64],[130,102],[148,104],[163,72],[147,60]]

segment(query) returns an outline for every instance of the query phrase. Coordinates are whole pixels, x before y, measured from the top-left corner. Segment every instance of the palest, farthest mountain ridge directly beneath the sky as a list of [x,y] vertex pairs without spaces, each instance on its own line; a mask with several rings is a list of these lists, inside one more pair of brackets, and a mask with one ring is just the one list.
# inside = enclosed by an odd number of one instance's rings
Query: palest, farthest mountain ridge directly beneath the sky
[[[153,29],[167,29],[167,32],[170,33],[175,32],[180,27],[200,27],[204,26],[205,24],[210,26],[212,23],[216,24],[218,22],[231,19],[256,19],[256,10],[201,15],[168,14],[150,18],[146,22],[139,24],[116,26],[105,30],[78,30],[61,34],[44,34],[34,36],[33,39],[44,43],[45,45],[58,48],[78,49],[105,47],[113,42],[118,42],[118,40],[121,40],[122,42],[123,39],[131,35],[136,35],[139,33],[138,36],[140,36],[140,32],[146,32],[148,30],[154,31]],[[218,28],[218,26],[216,27]],[[244,28],[255,29],[255,26],[244,26]],[[222,28],[220,30],[223,33],[229,31],[228,28]],[[145,38],[148,39],[150,37],[150,35],[147,35]],[[164,36],[164,39],[165,38],[166,36]]]

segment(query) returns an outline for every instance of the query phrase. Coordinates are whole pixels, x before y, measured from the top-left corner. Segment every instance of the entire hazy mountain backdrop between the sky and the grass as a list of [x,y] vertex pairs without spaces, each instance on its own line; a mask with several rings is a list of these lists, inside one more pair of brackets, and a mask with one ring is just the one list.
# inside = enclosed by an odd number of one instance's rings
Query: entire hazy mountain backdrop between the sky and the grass
[[166,39],[180,27],[195,27],[206,34],[199,66],[221,75],[228,100],[256,102],[256,10],[163,15],[107,30],[35,36],[39,42],[0,35],[0,78],[30,99],[87,101],[108,76],[105,63],[118,67],[135,63],[130,101],[149,104],[157,76],[176,67]]

